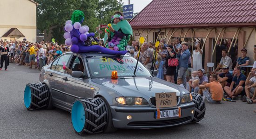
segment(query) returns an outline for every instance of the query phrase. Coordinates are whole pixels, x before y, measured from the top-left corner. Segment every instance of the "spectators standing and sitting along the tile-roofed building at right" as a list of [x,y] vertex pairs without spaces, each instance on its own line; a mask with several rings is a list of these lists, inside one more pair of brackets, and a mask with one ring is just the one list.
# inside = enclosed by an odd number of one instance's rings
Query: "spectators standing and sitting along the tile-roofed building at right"
[[[195,49],[191,54],[189,51],[191,44],[182,42],[180,38],[175,38],[173,45],[165,44],[164,38],[160,40],[158,46],[151,41],[145,42],[141,44],[139,61],[149,70],[156,69],[156,77],[176,83],[190,92],[202,94],[210,103],[219,103],[223,97],[225,100],[234,100],[238,95],[243,96],[243,101],[247,101],[249,104],[256,103],[256,62],[254,62],[251,72],[247,73],[244,66],[249,65],[250,58],[246,56],[245,48],[240,50],[242,57],[236,59],[234,68],[232,68],[234,58],[230,58],[228,51],[222,49],[220,63],[213,72],[206,76],[202,67],[202,44],[198,41],[194,46]],[[133,41],[127,50],[131,56],[138,59],[139,49],[139,42]],[[256,55],[256,48],[253,51]],[[157,53],[156,56],[155,53]],[[178,59],[177,66],[169,64],[170,59],[174,58]],[[256,60],[255,57],[253,59]],[[192,76],[187,81],[189,64],[191,64]]]

